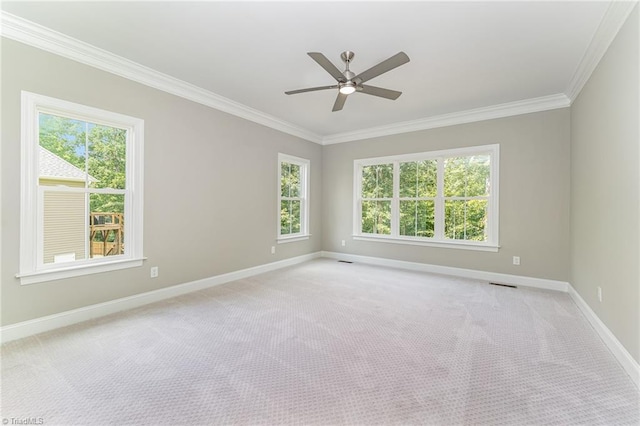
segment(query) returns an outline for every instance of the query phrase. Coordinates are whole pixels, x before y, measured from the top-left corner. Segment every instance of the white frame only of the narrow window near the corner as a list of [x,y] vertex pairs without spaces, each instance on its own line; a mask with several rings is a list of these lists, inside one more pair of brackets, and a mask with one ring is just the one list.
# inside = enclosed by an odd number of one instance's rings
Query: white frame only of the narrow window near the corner
[[[282,163],[295,164],[300,167],[300,232],[282,235],[280,225],[280,206],[282,205],[282,191],[280,182],[282,179]],[[278,153],[278,237],[277,242],[289,243],[309,239],[309,176],[311,162],[305,158]]]

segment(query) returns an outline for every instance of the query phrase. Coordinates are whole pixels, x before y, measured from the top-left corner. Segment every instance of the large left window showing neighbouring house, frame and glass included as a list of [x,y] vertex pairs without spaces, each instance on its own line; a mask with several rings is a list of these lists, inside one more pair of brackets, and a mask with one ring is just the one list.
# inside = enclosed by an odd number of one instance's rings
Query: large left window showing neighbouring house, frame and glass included
[[142,264],[143,127],[22,93],[21,283]]

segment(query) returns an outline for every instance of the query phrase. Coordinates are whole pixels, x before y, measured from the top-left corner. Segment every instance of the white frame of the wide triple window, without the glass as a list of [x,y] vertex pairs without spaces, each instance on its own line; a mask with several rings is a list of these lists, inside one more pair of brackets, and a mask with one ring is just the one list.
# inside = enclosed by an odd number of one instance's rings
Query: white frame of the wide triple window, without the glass
[[[444,237],[444,159],[450,157],[464,157],[473,155],[491,156],[491,193],[487,203],[487,240],[467,241],[453,240]],[[438,190],[435,200],[435,229],[434,237],[414,237],[400,235],[400,163],[438,160]],[[421,152],[415,154],[394,155],[357,159],[353,162],[353,239],[364,241],[378,241],[396,244],[410,244],[430,247],[457,248],[464,250],[479,250],[497,252],[499,245],[499,161],[500,145],[482,145],[468,148],[447,149],[441,151]],[[362,168],[376,164],[393,164],[393,198],[391,200],[391,234],[368,234],[362,232]]]

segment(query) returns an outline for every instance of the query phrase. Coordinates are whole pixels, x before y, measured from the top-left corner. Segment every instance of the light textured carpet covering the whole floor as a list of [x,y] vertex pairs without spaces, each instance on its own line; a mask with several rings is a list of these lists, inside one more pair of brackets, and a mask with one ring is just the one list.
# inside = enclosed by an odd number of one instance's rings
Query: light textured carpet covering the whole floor
[[567,294],[319,259],[10,342],[44,424],[640,423]]

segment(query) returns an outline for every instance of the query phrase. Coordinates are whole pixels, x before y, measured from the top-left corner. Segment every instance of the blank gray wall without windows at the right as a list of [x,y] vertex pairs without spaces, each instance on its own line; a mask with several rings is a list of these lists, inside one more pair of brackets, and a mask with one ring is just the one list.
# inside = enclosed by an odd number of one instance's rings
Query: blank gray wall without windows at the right
[[571,107],[571,284],[640,362],[638,15]]

